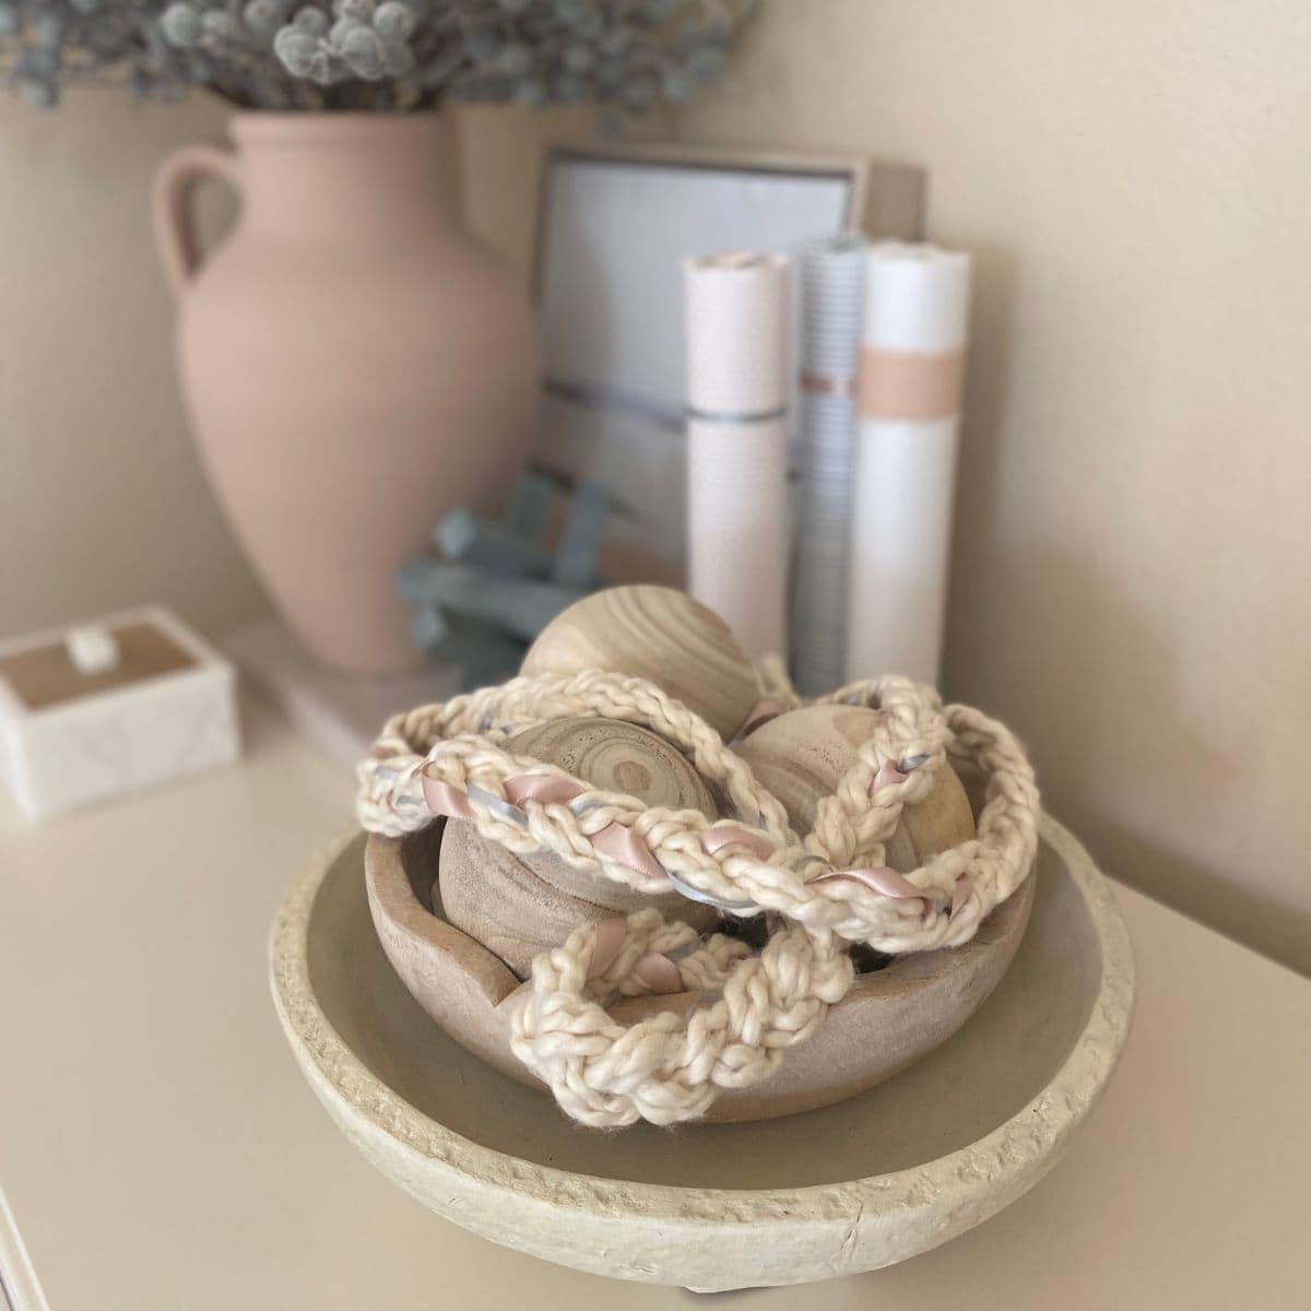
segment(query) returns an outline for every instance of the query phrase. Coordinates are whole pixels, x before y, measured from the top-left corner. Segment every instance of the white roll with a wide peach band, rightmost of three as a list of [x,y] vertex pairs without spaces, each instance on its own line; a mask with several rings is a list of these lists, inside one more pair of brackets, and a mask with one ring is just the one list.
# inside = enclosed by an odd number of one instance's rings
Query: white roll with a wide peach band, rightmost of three
[[966,254],[869,249],[847,679],[939,679],[969,298]]

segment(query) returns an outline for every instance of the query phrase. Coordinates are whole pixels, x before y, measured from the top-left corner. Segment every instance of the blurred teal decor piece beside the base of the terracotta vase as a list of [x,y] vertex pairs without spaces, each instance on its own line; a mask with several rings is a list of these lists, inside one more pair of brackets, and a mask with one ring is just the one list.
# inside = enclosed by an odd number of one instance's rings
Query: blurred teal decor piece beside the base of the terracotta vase
[[551,475],[520,473],[499,519],[451,510],[433,530],[437,551],[397,570],[396,587],[414,607],[414,642],[458,666],[464,690],[513,676],[538,633],[603,586],[598,557],[610,493],[594,482],[573,488],[558,540],[548,547],[561,490],[570,488]]

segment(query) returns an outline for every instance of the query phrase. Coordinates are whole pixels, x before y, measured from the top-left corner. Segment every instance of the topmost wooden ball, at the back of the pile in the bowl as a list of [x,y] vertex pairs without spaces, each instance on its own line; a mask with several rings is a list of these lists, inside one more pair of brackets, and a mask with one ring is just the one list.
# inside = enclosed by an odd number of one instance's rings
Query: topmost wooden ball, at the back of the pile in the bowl
[[603,669],[650,679],[725,739],[759,699],[751,658],[728,624],[673,587],[610,587],[574,602],[541,631],[524,674]]

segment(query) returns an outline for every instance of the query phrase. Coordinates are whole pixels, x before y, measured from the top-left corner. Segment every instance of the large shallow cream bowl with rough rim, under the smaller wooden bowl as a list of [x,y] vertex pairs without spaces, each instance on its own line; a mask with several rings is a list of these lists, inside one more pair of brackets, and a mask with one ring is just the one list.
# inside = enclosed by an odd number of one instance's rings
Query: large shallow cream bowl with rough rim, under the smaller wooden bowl
[[350,1141],[484,1238],[699,1291],[871,1270],[1032,1188],[1120,1057],[1134,992],[1124,923],[1074,838],[1050,819],[1042,832],[1029,928],[970,1023],[895,1078],[804,1114],[581,1129],[410,996],[370,918],[361,838],[316,861],[281,907],[274,999]]

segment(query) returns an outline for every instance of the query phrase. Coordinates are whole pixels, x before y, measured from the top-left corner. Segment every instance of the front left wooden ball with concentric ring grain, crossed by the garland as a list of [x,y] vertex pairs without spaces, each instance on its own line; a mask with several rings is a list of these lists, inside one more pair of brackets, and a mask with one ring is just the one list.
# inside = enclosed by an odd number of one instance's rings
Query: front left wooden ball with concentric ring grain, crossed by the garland
[[[555,720],[515,734],[507,747],[648,806],[718,818],[709,789],[687,759],[635,724]],[[517,856],[465,819],[446,823],[438,891],[446,919],[499,956],[519,978],[527,978],[539,952],[557,947],[587,920],[629,915],[644,906],[701,931],[718,918],[714,907],[678,893],[646,897],[547,852]]]

